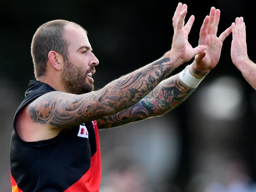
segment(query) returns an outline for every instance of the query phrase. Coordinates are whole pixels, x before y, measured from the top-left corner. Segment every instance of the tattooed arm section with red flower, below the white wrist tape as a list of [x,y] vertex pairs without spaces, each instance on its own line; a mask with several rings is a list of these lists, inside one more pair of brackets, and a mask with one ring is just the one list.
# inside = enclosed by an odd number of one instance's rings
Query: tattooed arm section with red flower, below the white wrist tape
[[195,89],[180,83],[178,74],[161,82],[152,92],[132,107],[97,120],[99,128],[117,127],[170,111]]

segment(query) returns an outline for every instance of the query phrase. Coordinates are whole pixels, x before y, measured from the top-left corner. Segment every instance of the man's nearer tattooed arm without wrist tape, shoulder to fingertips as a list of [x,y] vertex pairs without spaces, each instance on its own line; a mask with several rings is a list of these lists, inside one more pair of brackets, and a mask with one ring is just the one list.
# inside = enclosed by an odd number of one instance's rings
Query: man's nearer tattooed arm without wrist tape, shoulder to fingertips
[[188,34],[194,21],[191,16],[184,26],[186,4],[178,4],[173,17],[172,48],[159,60],[112,81],[104,88],[82,95],[50,92],[32,102],[29,114],[33,122],[50,127],[70,127],[122,111],[146,96],[161,80],[182,63],[206,49],[193,48]]

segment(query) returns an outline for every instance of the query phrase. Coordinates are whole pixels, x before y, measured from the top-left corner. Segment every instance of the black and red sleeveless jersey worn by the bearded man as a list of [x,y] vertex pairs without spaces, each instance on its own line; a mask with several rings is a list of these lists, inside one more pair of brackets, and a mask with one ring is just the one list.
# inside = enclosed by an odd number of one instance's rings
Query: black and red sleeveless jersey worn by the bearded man
[[[55,91],[39,81],[30,81],[19,110],[47,92]],[[58,136],[36,142],[25,142],[15,129],[10,145],[12,192],[98,192],[101,164],[96,121]]]

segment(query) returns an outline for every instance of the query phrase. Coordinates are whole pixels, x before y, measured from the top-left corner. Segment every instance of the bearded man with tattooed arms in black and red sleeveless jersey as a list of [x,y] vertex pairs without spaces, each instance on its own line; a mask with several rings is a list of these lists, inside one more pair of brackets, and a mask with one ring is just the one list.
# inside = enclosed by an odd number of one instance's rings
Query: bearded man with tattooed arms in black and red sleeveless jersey
[[[181,103],[217,65],[222,43],[219,9],[211,8],[193,48],[186,4],[173,16],[172,48],[159,60],[93,91],[99,61],[86,31],[73,22],[53,20],[32,39],[35,78],[15,113],[11,136],[14,192],[97,192],[100,186],[98,128],[115,127],[163,114]],[[167,78],[182,63],[195,61]],[[129,108],[130,107],[130,108]]]

